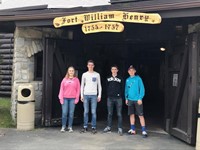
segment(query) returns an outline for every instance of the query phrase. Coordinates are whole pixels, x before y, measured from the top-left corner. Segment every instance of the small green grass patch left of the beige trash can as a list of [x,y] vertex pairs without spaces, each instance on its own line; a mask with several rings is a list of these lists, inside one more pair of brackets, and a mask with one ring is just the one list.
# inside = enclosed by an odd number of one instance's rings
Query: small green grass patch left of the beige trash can
[[10,98],[0,97],[0,128],[12,128],[15,126],[10,114]]

